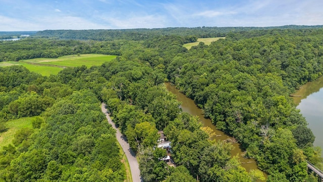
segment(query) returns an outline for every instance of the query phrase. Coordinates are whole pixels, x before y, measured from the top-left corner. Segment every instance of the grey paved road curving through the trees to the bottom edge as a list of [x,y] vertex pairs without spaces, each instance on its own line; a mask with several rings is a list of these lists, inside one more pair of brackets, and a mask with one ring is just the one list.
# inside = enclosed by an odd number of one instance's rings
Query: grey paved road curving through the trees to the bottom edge
[[140,170],[139,170],[139,164],[136,159],[136,154],[132,152],[130,149],[129,144],[125,141],[125,136],[121,134],[119,129],[116,127],[115,123],[112,122],[109,114],[107,114],[107,110],[105,109],[105,104],[102,103],[101,105],[101,110],[105,114],[106,119],[109,121],[110,124],[112,124],[112,127],[117,130],[117,140],[121,147],[123,148],[124,153],[126,154],[126,157],[128,159],[129,165],[130,165],[130,170],[131,170],[131,175],[132,175],[132,181],[133,182],[139,182],[143,181],[142,178],[140,177]]

